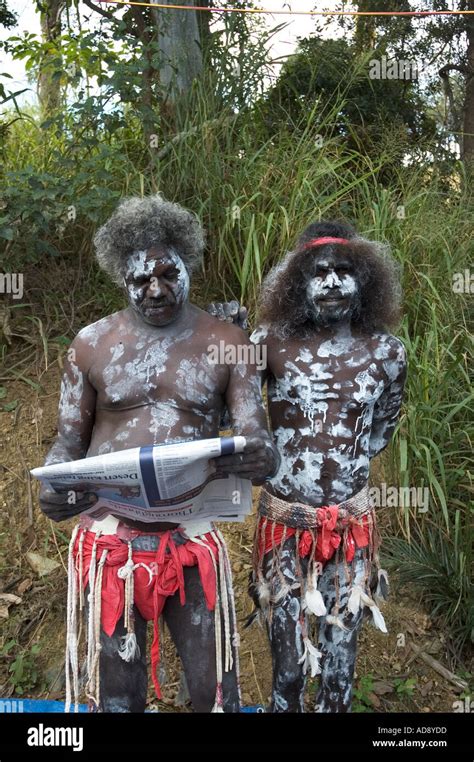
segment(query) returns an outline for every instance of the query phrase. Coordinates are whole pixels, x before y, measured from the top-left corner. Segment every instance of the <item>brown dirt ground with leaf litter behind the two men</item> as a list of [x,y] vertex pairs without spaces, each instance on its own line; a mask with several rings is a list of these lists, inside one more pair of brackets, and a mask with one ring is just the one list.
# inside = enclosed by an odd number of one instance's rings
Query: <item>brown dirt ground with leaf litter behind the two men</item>
[[[61,362],[57,352],[52,354],[44,371],[41,349],[32,345],[28,363],[30,368],[38,369],[36,375],[33,372],[13,382],[0,379],[7,390],[0,399],[3,450],[0,594],[17,596],[9,605],[0,597],[0,697],[4,698],[64,698],[67,545],[74,522],[53,524],[45,519],[37,502],[37,485],[28,475],[28,469],[41,465],[56,432]],[[21,370],[22,365],[18,367]],[[33,383],[40,387],[32,387],[31,378],[36,379]],[[243,525],[221,526],[228,542],[241,623],[252,610],[247,578],[253,525],[252,516]],[[56,567],[39,576],[27,557],[32,552],[56,562]],[[391,597],[383,613],[389,634],[384,635],[365,624],[360,636],[354,711],[453,711],[453,702],[460,698],[460,690],[415,657],[410,648],[410,643],[415,642],[447,666],[443,635],[416,598],[409,590],[400,588],[396,579],[392,579]],[[164,698],[161,702],[156,700],[150,680],[150,708],[191,711],[189,704],[183,703],[179,660],[168,636],[165,636],[164,653],[167,680],[163,686]],[[243,703],[267,704],[271,661],[266,633],[258,624],[241,630],[240,668]],[[315,690],[316,680],[310,680],[309,710]]]

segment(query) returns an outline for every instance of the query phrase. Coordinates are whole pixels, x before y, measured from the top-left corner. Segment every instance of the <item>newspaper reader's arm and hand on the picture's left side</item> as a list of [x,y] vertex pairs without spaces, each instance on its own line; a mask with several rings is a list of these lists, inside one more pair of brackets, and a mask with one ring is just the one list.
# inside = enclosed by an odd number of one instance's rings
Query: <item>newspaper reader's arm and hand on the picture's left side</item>
[[[89,351],[87,351],[87,349]],[[71,351],[72,350],[72,351]],[[96,391],[88,379],[90,348],[80,335],[74,339],[64,364],[59,401],[58,434],[49,450],[45,465],[84,458],[94,427]],[[42,484],[40,506],[53,521],[64,521],[90,508],[97,498],[77,492],[71,496],[58,493]]]

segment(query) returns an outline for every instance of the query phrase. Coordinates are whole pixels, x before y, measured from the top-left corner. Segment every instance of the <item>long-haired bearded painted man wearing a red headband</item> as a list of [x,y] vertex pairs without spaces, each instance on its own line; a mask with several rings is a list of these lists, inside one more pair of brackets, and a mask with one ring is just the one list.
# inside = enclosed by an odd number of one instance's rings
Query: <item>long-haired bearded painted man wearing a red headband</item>
[[[281,464],[260,496],[250,590],[270,637],[274,712],[304,711],[307,672],[320,675],[316,711],[350,711],[364,613],[386,632],[368,478],[402,402],[405,351],[387,333],[399,302],[387,248],[338,222],[309,225],[262,288],[251,339],[266,349]],[[239,315],[236,303],[209,311]]]

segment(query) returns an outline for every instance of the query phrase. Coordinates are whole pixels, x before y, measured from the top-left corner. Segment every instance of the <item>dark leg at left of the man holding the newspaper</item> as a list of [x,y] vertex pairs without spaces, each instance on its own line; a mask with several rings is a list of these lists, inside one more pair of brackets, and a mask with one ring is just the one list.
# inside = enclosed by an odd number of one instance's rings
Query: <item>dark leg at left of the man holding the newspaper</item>
[[[86,588],[86,626],[87,595]],[[112,637],[101,631],[99,712],[144,712],[147,696],[146,621],[134,607],[135,634],[140,649],[133,661],[119,655],[121,638],[126,634],[123,617],[117,622]]]

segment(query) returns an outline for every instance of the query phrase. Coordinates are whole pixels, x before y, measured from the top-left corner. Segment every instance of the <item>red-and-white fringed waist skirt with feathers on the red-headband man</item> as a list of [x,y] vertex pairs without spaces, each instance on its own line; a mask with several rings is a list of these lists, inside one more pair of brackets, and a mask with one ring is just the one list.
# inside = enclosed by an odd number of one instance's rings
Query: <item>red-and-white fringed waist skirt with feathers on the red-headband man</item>
[[[259,604],[263,616],[268,623],[272,621],[275,607],[288,594],[290,589],[300,590],[301,616],[304,652],[300,659],[304,672],[311,670],[314,676],[319,673],[320,654],[311,643],[308,634],[307,614],[315,617],[325,617],[327,624],[331,624],[342,630],[348,630],[344,623],[344,616],[340,615],[340,568],[343,566],[346,582],[350,585],[347,610],[355,615],[361,607],[367,607],[372,614],[373,624],[382,632],[387,632],[383,615],[377,602],[386,598],[388,591],[388,576],[384,569],[380,569],[378,549],[380,538],[376,526],[375,510],[370,504],[368,489],[363,489],[350,500],[339,506],[315,510],[314,507],[303,503],[289,503],[269,493],[265,488],[261,492],[259,513],[260,519],[254,541],[253,554],[253,584],[256,587]],[[296,581],[289,584],[285,579],[282,569],[281,558],[283,546],[291,529],[295,537],[295,571]],[[276,541],[276,532],[279,532]],[[305,555],[307,565],[305,572],[302,570],[300,558],[300,541],[303,533],[307,533],[305,542],[309,545]],[[336,535],[338,544],[329,553],[329,558],[334,558],[335,575],[334,590],[335,602],[331,611],[328,611],[322,593],[318,590],[319,577],[322,571],[322,563],[317,560],[317,552],[321,552],[324,545],[324,532],[328,535]],[[320,533],[323,533],[320,536]],[[353,534],[354,533],[354,534]],[[339,535],[339,538],[337,537]],[[354,537],[359,537],[362,553],[363,568],[357,579],[353,579],[354,569],[347,562],[349,549],[354,552]],[[320,541],[321,540],[321,541]],[[364,546],[364,541],[367,543]],[[357,543],[356,543],[357,545]],[[330,547],[330,543],[328,543]],[[272,557],[264,574],[264,559],[268,552]],[[370,582],[372,570],[377,571],[377,590],[372,598]],[[253,621],[252,617],[252,621]],[[250,622],[250,620],[249,620]]]

